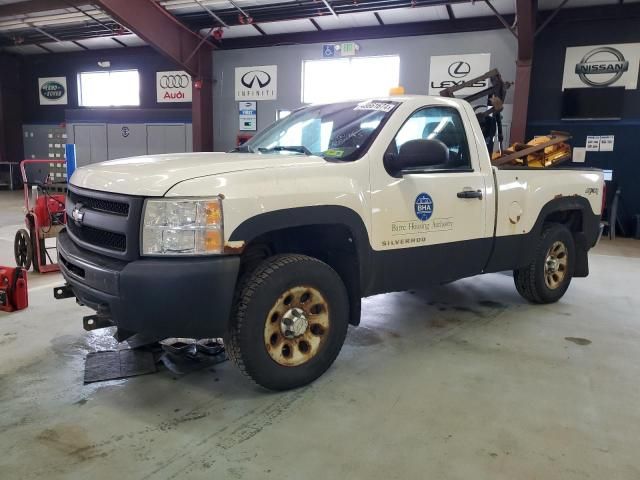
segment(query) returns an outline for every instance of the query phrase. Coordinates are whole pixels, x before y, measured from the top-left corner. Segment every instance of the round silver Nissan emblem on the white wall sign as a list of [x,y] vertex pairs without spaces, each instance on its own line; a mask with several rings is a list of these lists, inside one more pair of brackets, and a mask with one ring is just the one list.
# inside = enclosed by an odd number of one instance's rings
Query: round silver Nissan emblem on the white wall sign
[[575,72],[586,85],[607,87],[620,80],[627,70],[629,70],[629,61],[624,58],[620,50],[613,47],[598,47],[582,57],[576,65]]

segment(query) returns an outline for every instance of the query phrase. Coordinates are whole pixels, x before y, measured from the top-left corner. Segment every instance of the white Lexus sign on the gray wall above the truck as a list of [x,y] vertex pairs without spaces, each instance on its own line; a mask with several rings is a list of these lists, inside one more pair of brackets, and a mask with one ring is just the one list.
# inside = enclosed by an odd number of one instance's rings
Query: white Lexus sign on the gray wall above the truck
[[[491,55],[472,53],[464,55],[437,55],[431,57],[429,66],[429,95],[438,95],[441,90],[468,82],[479,77],[490,68]],[[469,95],[487,87],[487,80],[476,82],[456,92]]]

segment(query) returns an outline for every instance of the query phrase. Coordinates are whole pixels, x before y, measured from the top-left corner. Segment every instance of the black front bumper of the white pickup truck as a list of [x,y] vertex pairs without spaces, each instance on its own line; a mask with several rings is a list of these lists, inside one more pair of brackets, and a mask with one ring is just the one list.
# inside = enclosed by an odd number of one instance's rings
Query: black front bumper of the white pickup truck
[[158,338],[221,337],[240,257],[116,260],[58,235],[60,271],[76,298],[120,329]]

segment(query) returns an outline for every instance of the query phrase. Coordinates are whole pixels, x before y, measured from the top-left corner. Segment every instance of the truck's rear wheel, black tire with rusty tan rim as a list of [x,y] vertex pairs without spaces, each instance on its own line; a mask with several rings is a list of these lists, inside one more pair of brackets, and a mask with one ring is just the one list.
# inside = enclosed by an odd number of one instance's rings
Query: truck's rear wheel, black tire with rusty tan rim
[[538,240],[533,261],[514,270],[513,280],[518,293],[526,300],[554,303],[569,288],[574,265],[575,243],[571,231],[561,224],[548,224]]

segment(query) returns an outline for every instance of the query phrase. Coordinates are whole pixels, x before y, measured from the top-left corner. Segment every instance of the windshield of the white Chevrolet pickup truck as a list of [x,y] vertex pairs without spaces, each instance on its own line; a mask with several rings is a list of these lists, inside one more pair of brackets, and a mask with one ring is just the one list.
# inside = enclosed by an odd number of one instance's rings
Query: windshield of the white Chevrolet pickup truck
[[277,121],[234,151],[354,160],[371,144],[398,102],[315,105]]

